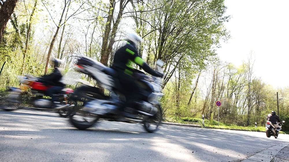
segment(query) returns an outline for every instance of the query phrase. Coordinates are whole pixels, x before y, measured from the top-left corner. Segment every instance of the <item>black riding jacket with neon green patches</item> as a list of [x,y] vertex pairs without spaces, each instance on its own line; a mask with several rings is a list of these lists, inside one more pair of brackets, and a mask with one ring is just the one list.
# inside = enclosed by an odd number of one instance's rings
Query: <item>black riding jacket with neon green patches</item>
[[142,58],[138,55],[138,51],[134,43],[127,41],[126,45],[115,52],[112,67],[121,69],[128,75],[132,75],[135,71],[135,68],[131,66],[133,62],[144,69],[145,72],[153,76],[162,76],[162,74],[151,69],[151,67],[149,67],[144,60],[142,60]]

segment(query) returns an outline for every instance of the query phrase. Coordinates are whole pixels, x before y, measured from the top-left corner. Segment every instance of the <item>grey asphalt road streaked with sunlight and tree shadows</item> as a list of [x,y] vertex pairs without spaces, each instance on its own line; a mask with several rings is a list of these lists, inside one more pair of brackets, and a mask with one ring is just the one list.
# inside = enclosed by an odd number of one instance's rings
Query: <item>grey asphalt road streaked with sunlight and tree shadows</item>
[[76,130],[56,113],[0,111],[0,161],[242,161],[289,135],[99,121]]

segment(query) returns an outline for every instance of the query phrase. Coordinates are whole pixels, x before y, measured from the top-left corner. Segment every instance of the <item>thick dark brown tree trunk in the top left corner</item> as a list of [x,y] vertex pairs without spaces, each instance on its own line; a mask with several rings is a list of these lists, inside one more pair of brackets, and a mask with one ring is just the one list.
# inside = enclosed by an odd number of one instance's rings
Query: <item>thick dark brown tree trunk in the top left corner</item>
[[13,13],[13,10],[16,6],[18,0],[6,0],[3,2],[0,9],[0,42],[5,31],[6,24]]

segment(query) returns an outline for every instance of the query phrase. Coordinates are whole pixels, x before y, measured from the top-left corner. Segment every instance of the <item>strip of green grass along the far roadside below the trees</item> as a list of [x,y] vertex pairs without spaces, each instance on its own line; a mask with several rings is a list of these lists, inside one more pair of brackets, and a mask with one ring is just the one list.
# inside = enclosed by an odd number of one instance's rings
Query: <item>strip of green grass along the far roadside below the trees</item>
[[[193,125],[202,125],[202,119],[201,118],[192,118],[192,117],[175,117],[175,116],[169,116],[166,117],[167,122],[172,122],[172,123],[181,123],[181,124],[193,124]],[[220,122],[218,126],[218,121],[213,120],[213,124],[210,123],[210,120],[205,119],[205,126],[206,127],[211,127],[211,128],[225,128],[225,129],[240,129],[240,130],[249,130],[249,131],[265,131],[265,126],[262,127],[257,127],[255,128],[254,126],[237,126],[234,124],[225,124]],[[281,134],[289,134],[289,131],[280,131]]]

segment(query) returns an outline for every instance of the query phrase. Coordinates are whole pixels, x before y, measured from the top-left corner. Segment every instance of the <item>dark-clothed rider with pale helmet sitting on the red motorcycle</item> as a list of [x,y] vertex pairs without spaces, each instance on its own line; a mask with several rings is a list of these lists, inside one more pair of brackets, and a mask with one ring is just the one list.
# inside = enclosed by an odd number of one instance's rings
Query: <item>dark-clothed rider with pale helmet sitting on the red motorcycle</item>
[[62,63],[62,60],[54,58],[53,59],[53,67],[54,67],[53,72],[41,77],[42,82],[45,85],[51,86],[49,89],[46,90],[46,93],[47,95],[51,97],[51,101],[53,102],[53,105],[52,105],[53,107],[58,106],[57,97],[55,97],[55,94],[60,92],[65,86],[65,84],[60,82],[60,80],[62,79],[62,74],[59,70],[61,63]]

